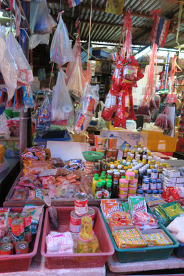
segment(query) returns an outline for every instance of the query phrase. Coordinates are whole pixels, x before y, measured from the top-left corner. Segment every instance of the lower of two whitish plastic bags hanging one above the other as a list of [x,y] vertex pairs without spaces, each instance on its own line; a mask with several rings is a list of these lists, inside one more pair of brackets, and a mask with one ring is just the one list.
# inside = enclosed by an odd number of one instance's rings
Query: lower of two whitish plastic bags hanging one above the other
[[[72,100],[65,84],[63,70],[58,73],[56,86],[53,88],[52,97],[52,124],[63,125],[74,116]],[[63,122],[65,121],[65,122]]]

